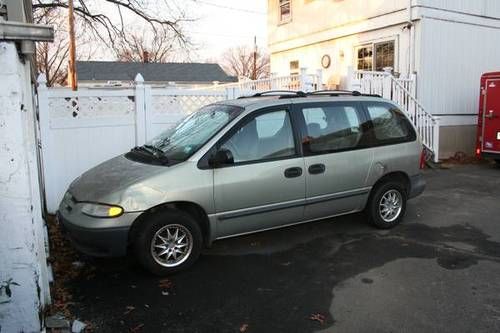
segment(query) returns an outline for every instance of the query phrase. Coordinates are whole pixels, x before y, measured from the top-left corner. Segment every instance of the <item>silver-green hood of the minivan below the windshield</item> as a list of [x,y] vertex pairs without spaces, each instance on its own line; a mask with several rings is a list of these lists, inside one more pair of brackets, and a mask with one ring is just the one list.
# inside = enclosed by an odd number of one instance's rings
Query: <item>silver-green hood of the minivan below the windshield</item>
[[77,201],[103,202],[103,198],[165,172],[166,169],[165,166],[134,162],[121,155],[82,174],[71,183],[69,191]]

